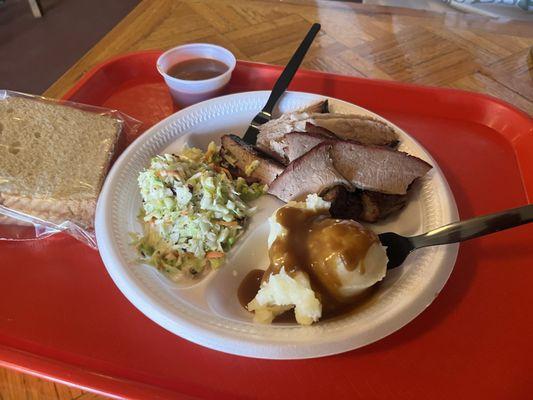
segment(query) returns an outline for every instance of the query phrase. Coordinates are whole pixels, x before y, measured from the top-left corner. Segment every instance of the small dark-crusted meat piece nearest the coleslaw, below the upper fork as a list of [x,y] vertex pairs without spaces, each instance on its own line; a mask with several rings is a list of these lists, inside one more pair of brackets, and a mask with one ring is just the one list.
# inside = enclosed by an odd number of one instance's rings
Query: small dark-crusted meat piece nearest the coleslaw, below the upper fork
[[238,136],[224,135],[221,142],[224,159],[248,182],[270,185],[283,172],[283,165],[262,154]]

